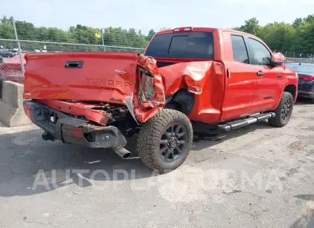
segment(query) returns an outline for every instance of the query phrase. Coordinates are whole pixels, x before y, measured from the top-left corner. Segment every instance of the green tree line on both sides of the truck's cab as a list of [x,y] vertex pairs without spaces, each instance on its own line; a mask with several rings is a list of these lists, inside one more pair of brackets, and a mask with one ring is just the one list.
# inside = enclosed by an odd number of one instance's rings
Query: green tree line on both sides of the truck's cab
[[[114,28],[110,26],[103,30],[102,39],[101,29],[81,24],[70,26],[67,31],[52,27],[47,28],[45,26],[36,27],[34,24],[25,21],[16,21],[15,25],[20,40],[41,40],[90,45],[102,45],[104,42],[105,45],[109,46],[137,48],[144,48],[156,33],[154,29],[151,29],[145,35],[142,31],[136,31],[135,29],[122,29],[121,27]],[[165,28],[160,30],[163,29]],[[243,25],[232,29],[245,31],[261,38],[272,50],[314,54],[314,14],[304,18],[297,18],[292,24],[273,22],[264,26],[261,26],[256,17],[253,17],[246,20]],[[13,17],[4,16],[1,18],[0,38],[15,39]],[[12,43],[13,45],[15,43]],[[37,45],[36,43],[22,43],[22,46],[24,50],[33,49],[35,46],[38,46],[38,49],[43,49],[43,45],[40,43]],[[60,45],[58,48],[60,51],[68,51],[73,47],[70,45]],[[58,48],[56,47],[56,49]],[[86,48],[84,49],[85,51],[87,51]],[[101,47],[89,47],[89,50],[101,50]]]

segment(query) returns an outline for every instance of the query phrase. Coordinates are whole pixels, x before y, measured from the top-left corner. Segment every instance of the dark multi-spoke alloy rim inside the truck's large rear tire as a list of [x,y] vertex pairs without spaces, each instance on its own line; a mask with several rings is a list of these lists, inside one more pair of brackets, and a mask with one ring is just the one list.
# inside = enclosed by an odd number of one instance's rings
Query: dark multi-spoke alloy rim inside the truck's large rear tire
[[163,160],[173,161],[179,158],[186,146],[186,130],[179,123],[174,123],[167,128],[160,139],[160,155]]

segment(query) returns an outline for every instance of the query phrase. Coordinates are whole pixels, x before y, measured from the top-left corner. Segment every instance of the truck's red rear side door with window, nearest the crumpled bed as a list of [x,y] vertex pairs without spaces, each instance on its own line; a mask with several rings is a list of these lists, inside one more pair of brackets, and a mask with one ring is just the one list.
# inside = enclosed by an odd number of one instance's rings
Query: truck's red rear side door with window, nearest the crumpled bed
[[251,114],[256,73],[245,40],[241,33],[223,32],[227,68],[223,121]]

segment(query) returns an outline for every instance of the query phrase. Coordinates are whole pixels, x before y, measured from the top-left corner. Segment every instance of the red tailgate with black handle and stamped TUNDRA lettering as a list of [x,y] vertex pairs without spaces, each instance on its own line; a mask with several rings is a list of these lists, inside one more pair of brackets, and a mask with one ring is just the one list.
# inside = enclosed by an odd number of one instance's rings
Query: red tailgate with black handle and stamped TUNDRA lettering
[[123,103],[133,96],[137,53],[27,54],[25,99]]

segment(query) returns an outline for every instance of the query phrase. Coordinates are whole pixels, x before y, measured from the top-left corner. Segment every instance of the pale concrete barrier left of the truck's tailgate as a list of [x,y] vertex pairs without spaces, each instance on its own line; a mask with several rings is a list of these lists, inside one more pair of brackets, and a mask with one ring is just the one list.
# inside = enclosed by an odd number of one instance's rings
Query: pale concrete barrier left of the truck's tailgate
[[8,127],[30,124],[23,109],[23,84],[1,81],[0,87],[0,121]]

